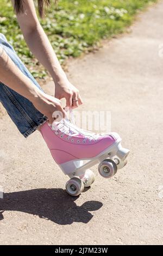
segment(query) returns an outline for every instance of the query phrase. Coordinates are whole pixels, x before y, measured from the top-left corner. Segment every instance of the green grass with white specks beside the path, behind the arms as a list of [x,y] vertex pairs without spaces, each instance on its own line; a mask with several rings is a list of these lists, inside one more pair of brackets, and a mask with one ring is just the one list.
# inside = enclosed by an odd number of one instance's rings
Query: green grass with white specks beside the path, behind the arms
[[[60,0],[52,4],[41,21],[61,64],[72,56],[97,46],[101,39],[120,34],[131,24],[137,11],[156,0]],[[0,0],[0,33],[5,34],[34,77],[46,71],[29,51],[9,0]],[[37,68],[35,68],[37,66]]]

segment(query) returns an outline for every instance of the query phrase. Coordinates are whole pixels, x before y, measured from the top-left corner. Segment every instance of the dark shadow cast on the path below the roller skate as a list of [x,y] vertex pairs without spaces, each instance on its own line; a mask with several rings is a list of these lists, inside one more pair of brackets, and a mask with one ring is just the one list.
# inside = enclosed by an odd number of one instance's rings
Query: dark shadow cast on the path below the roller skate
[[87,223],[93,217],[89,211],[96,211],[103,205],[98,201],[88,201],[77,206],[76,199],[61,188],[4,193],[4,198],[0,199],[0,221],[4,218],[4,211],[21,211],[61,225]]

